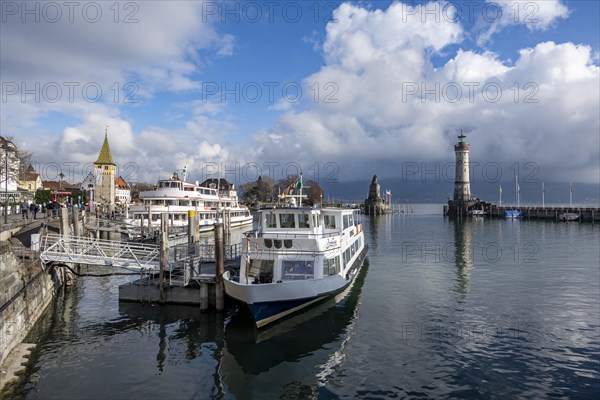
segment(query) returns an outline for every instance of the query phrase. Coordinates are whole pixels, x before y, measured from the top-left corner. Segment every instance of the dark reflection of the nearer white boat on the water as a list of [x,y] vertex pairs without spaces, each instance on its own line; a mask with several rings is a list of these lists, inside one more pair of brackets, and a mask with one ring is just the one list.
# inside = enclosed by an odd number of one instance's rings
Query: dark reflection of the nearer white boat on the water
[[229,391],[237,398],[313,396],[315,376],[326,381],[332,359],[340,359],[336,353],[351,336],[367,269],[365,263],[353,286],[334,298],[266,329],[256,330],[243,308],[233,313],[221,364]]

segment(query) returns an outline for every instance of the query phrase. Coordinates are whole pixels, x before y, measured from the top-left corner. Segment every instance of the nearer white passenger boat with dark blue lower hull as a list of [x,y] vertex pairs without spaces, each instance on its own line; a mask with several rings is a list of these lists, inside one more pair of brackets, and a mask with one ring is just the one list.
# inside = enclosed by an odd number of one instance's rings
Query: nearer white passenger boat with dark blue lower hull
[[302,194],[288,197],[291,207],[259,211],[239,273],[223,275],[225,292],[248,305],[259,328],[342,291],[367,251],[359,210],[302,207]]

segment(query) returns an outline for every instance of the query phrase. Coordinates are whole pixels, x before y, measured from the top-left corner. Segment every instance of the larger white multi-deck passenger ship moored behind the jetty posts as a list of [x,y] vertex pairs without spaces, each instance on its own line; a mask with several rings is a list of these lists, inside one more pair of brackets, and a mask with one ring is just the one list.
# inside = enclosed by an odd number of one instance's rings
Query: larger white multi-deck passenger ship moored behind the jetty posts
[[169,179],[160,179],[153,190],[140,193],[142,204],[129,207],[130,235],[139,235],[140,225],[160,227],[161,215],[167,214],[170,226],[187,226],[190,211],[198,216],[200,232],[214,229],[217,222],[229,228],[252,224],[247,207],[238,202],[235,186],[223,178],[208,179],[202,184],[179,179],[177,173]]

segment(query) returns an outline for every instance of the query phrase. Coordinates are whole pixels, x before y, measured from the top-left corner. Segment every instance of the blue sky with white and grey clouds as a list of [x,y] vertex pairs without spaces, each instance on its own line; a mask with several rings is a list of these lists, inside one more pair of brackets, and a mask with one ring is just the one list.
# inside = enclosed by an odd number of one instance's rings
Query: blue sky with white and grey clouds
[[445,173],[461,130],[502,179],[600,180],[596,1],[1,6],[0,133],[45,179],[108,129],[130,181]]

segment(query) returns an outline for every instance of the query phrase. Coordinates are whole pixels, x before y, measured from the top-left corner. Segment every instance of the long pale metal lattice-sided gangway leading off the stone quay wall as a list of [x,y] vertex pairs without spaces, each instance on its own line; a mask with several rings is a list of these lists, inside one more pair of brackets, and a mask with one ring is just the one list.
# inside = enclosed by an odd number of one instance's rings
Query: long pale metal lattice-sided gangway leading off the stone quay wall
[[153,273],[160,269],[160,248],[155,244],[49,233],[40,238],[40,259],[44,262],[98,265]]

